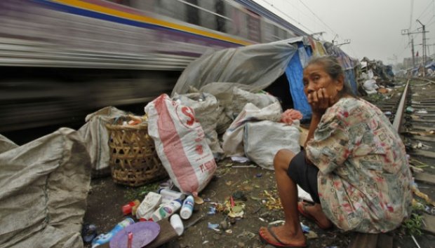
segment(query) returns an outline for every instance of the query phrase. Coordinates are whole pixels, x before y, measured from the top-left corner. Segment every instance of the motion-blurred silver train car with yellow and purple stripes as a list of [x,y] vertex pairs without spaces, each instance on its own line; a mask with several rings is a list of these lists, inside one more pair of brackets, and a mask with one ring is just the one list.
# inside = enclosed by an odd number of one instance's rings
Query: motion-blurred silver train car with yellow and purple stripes
[[203,53],[307,35],[248,0],[1,0],[0,132],[170,92]]

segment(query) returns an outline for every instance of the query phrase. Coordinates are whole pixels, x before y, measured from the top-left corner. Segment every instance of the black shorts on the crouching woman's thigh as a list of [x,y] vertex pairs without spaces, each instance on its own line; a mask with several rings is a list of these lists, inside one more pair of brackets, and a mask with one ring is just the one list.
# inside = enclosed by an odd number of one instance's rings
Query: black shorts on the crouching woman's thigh
[[290,161],[287,174],[295,184],[307,191],[314,202],[320,203],[319,191],[317,190],[317,173],[319,168],[305,161],[305,151],[300,151]]

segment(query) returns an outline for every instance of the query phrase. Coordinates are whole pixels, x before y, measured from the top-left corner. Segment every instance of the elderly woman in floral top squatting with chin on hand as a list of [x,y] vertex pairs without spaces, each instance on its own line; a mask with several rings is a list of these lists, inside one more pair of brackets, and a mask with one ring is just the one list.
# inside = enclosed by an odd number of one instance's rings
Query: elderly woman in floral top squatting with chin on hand
[[[304,69],[312,107],[304,150],[276,153],[274,168],[285,223],[260,228],[276,247],[305,247],[300,214],[323,229],[384,233],[410,216],[411,174],[401,138],[384,113],[352,94],[335,57],[314,57]],[[297,187],[315,204],[297,202]]]

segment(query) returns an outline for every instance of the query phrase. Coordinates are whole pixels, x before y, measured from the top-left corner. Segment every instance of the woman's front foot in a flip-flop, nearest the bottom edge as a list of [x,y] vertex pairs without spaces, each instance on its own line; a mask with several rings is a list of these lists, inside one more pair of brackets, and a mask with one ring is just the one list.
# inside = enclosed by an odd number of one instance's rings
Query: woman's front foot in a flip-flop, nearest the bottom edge
[[260,238],[272,244],[275,247],[306,247],[307,239],[299,229],[297,233],[290,233],[286,225],[283,226],[269,226],[260,228]]

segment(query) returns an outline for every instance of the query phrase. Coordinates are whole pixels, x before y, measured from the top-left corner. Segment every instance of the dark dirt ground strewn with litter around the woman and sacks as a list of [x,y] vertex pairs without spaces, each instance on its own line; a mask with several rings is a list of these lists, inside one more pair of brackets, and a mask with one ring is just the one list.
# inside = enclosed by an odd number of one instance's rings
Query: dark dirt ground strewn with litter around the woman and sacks
[[[283,220],[281,207],[274,202],[274,199],[279,199],[274,172],[260,167],[236,168],[238,165],[251,164],[234,163],[229,159],[218,163],[215,176],[200,193],[206,202],[195,205],[192,217],[183,222],[185,226],[189,226],[192,221],[201,220],[187,228],[177,240],[170,242],[169,247],[270,247],[260,242],[257,232],[267,223]],[[105,233],[125,217],[121,212],[122,205],[135,198],[142,200],[143,196],[150,189],[157,188],[159,183],[130,188],[114,184],[111,177],[105,177],[93,179],[91,186],[84,221],[95,224],[99,233]],[[208,214],[209,207],[213,206],[211,202],[223,203],[230,195],[242,196],[245,200],[243,218],[232,220],[227,230],[217,231],[208,228],[208,223],[221,223],[226,219],[226,215],[220,212]],[[300,221],[318,236],[307,241],[308,247],[332,248],[349,245],[350,233],[343,233],[337,228],[321,230],[304,217],[301,217]],[[394,235],[394,247],[417,247],[401,228],[391,232],[391,235]],[[416,238],[420,247],[435,247],[435,237],[432,235],[424,234]]]

